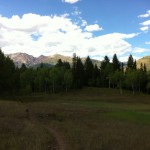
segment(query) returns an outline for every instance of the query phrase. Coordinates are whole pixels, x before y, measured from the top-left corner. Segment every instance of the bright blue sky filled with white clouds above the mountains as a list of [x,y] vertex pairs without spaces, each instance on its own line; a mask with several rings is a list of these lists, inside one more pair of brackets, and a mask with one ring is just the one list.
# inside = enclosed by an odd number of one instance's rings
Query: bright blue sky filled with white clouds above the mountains
[[150,55],[149,0],[0,0],[5,54]]

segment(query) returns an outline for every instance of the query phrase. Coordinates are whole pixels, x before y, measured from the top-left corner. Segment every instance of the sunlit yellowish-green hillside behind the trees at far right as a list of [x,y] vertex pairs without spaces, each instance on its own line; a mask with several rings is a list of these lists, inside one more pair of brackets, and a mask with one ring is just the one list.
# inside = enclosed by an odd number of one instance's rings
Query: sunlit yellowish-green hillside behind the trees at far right
[[137,67],[140,68],[142,64],[145,64],[147,67],[147,70],[150,70],[150,56],[145,56],[139,60],[137,60]]

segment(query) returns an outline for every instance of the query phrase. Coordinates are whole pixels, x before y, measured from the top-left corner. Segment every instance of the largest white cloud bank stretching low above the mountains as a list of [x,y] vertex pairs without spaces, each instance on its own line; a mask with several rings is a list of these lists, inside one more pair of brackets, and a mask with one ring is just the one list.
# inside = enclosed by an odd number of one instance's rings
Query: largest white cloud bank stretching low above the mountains
[[137,48],[126,39],[138,34],[111,33],[93,36],[92,31],[101,29],[98,24],[91,26],[91,30],[83,30],[82,24],[73,23],[69,17],[37,14],[11,18],[0,16],[0,47],[5,54],[24,52],[34,56],[56,53],[72,56],[76,53],[81,57],[90,55],[93,58],[102,58],[105,55],[112,57],[114,53],[123,57],[137,52]]

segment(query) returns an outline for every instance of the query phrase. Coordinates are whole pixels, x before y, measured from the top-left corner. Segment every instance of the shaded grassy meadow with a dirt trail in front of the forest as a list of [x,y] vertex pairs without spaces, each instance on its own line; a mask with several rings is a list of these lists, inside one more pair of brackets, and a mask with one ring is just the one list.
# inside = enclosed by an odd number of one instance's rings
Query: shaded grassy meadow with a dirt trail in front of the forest
[[150,95],[84,88],[0,100],[0,150],[149,150]]

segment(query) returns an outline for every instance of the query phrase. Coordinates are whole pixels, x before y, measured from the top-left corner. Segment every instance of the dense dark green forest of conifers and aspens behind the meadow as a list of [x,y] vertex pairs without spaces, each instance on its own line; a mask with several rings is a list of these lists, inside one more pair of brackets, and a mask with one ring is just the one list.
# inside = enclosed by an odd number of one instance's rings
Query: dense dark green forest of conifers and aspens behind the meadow
[[0,49],[0,94],[30,94],[68,92],[85,86],[118,88],[136,92],[150,93],[150,72],[145,64],[140,68],[136,60],[129,56],[127,64],[121,63],[114,54],[112,61],[104,57],[101,66],[94,65],[88,56],[83,63],[73,54],[72,64],[58,60],[54,67],[41,64],[38,68],[21,68],[4,55]]

